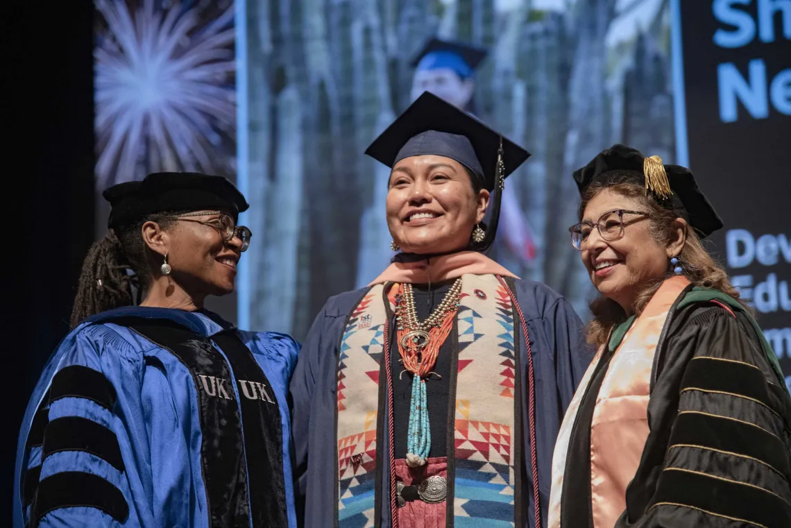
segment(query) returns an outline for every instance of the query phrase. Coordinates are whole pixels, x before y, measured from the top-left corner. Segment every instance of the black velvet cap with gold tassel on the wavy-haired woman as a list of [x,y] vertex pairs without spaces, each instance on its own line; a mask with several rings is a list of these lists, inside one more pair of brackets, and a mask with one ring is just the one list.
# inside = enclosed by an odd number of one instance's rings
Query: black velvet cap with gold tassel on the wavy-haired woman
[[[581,194],[591,183],[623,181],[624,178],[646,185],[648,191],[649,187],[654,187],[654,183],[652,175],[649,175],[646,184],[645,172],[651,172],[652,165],[656,167],[659,164],[659,157],[646,160],[639,150],[618,144],[601,151],[589,164],[575,171],[573,176]],[[661,167],[664,168],[669,190],[662,192],[660,189],[650,191],[649,194],[660,205],[676,210],[702,237],[722,228],[720,217],[695,183],[692,172],[680,165],[661,164]]]

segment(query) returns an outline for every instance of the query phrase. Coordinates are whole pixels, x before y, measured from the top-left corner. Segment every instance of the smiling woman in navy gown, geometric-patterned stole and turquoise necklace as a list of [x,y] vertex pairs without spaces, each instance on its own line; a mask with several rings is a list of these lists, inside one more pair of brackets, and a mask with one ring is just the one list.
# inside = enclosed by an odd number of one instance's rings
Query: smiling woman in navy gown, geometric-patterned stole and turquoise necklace
[[562,296],[483,255],[528,153],[430,93],[366,153],[392,168],[401,253],[328,300],[305,340],[290,386],[305,526],[542,526],[592,353]]

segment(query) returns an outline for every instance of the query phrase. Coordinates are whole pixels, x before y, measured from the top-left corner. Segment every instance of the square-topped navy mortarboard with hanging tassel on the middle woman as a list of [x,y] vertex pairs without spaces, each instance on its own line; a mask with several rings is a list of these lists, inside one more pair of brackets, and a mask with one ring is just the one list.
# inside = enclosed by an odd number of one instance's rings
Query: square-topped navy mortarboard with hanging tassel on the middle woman
[[494,190],[486,238],[478,245],[486,251],[494,240],[500,217],[501,188],[495,188],[498,153],[502,148],[501,178],[511,174],[530,153],[471,114],[423,92],[403,114],[365,149],[373,159],[392,168],[407,157],[435,155],[458,161],[475,174],[487,190]]

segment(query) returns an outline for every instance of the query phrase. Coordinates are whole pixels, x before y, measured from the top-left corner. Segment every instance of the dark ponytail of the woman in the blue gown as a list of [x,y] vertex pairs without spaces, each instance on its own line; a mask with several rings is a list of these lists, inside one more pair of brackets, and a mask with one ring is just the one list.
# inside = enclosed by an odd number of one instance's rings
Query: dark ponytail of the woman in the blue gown
[[172,217],[181,213],[165,211],[149,215],[133,224],[111,228],[103,239],[93,243],[82,262],[71,328],[91,315],[134,305],[132,286],[141,296],[149,289],[155,273],[149,262],[151,250],[142,237],[143,224],[152,221],[167,229],[175,221]]

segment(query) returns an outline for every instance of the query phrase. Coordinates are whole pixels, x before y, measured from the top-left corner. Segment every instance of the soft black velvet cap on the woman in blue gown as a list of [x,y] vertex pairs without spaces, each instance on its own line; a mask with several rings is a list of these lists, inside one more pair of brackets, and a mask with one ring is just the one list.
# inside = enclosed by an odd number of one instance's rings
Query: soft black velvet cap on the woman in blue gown
[[112,207],[108,228],[123,227],[163,211],[221,209],[238,220],[239,213],[249,207],[228,179],[198,172],[155,172],[139,182],[109,187],[102,196]]

